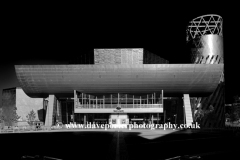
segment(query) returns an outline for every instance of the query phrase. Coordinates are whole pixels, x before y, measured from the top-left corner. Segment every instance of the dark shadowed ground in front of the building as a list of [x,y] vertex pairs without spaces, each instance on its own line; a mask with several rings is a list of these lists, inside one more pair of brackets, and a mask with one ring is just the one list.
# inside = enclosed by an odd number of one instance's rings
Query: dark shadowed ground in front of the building
[[[81,130],[1,134],[0,159],[42,155],[59,159],[146,160],[200,154],[238,159],[232,132],[173,130]],[[237,158],[238,156],[238,158]]]

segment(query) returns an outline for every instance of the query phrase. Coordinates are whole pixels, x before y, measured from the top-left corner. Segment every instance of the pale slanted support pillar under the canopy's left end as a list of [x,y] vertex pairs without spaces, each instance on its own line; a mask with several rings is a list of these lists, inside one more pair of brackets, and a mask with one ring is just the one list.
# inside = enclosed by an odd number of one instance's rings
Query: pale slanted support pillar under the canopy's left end
[[49,95],[47,113],[45,119],[45,126],[52,126],[53,124],[53,106],[54,106],[54,95]]

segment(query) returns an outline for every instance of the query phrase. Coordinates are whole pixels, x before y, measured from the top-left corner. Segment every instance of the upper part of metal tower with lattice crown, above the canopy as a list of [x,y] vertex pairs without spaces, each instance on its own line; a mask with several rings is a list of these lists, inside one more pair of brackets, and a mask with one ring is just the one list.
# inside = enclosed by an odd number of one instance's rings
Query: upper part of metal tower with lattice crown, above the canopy
[[186,41],[190,44],[192,63],[224,63],[222,23],[222,17],[215,14],[189,22]]

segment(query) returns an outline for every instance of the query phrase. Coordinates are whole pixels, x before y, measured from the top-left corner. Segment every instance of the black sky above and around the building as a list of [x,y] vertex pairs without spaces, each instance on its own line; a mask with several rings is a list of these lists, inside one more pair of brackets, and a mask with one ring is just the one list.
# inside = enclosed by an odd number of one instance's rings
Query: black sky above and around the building
[[239,33],[234,25],[237,14],[223,7],[103,9],[6,13],[0,90],[19,86],[15,64],[67,64],[94,48],[145,48],[170,63],[190,63],[186,52],[188,22],[201,15],[218,14],[223,17],[226,103],[232,102],[233,95],[240,95]]

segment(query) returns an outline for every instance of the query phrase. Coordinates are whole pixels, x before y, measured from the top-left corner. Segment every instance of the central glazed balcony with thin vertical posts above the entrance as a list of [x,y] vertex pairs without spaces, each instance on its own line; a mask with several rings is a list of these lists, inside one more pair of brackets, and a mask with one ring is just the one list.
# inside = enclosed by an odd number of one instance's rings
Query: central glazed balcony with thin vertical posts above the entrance
[[90,95],[75,92],[75,108],[107,109],[107,108],[162,108],[162,93],[153,94],[108,94]]

